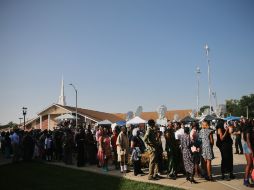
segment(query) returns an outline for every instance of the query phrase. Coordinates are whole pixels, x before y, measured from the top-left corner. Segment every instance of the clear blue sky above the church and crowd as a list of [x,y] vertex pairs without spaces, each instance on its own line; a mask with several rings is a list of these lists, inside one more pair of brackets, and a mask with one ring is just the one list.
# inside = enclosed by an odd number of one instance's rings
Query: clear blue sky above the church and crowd
[[208,105],[254,92],[252,0],[0,0],[0,124],[57,103],[106,112]]

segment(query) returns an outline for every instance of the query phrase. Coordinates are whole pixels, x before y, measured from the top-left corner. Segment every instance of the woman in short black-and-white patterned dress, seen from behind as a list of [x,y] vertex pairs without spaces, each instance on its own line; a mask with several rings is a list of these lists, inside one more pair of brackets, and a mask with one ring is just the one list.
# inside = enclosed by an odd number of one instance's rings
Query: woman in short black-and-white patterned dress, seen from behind
[[214,181],[212,178],[212,160],[214,159],[213,153],[213,131],[209,127],[209,122],[202,121],[202,129],[199,132],[199,138],[202,143],[202,157],[204,159],[204,165],[206,169],[205,179],[208,181]]

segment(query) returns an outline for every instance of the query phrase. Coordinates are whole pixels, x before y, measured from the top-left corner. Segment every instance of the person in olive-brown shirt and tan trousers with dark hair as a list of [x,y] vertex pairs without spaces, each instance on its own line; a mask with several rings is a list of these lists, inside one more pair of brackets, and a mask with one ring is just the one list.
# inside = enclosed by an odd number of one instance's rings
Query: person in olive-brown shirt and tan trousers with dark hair
[[158,168],[158,143],[156,141],[156,126],[153,119],[148,121],[148,128],[144,136],[144,142],[147,144],[150,157],[148,180],[158,180],[156,175],[156,170]]

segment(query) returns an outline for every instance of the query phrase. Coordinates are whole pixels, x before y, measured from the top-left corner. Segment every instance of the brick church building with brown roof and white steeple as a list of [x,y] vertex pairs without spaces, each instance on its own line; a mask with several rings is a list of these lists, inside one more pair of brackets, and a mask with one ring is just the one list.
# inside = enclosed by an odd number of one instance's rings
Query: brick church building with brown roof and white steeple
[[[191,110],[171,110],[165,113],[168,120],[173,120],[174,115],[178,115],[180,118],[184,118],[189,115]],[[41,129],[41,130],[53,130],[60,122],[57,118],[68,114],[69,116],[76,118],[76,107],[66,105],[66,97],[64,95],[64,80],[61,81],[61,91],[58,98],[58,103],[54,103],[45,109],[41,110],[37,116],[26,122],[26,129]],[[78,125],[96,124],[103,120],[109,120],[112,123],[125,120],[126,114],[123,113],[106,113],[95,110],[89,110],[84,108],[77,108]],[[158,118],[157,112],[142,112],[141,118],[145,120]],[[72,120],[75,123],[75,119]],[[24,128],[24,126],[20,126]]]

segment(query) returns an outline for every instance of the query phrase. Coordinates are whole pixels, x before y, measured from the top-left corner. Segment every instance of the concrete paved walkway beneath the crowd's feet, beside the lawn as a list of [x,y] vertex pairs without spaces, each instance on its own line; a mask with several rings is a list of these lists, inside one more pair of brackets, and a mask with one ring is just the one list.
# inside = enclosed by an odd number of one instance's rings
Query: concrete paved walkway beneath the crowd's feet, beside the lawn
[[[155,184],[161,184],[166,186],[173,186],[173,187],[179,187],[183,189],[190,189],[190,190],[245,190],[250,189],[248,187],[245,187],[242,185],[243,183],[243,175],[244,175],[244,166],[245,166],[245,157],[244,155],[236,155],[234,154],[234,174],[236,175],[236,179],[231,181],[225,181],[220,179],[220,153],[217,147],[214,147],[214,153],[215,153],[215,159],[213,160],[213,176],[216,179],[216,182],[208,182],[201,178],[195,178],[199,183],[198,184],[191,184],[190,182],[187,182],[185,180],[184,176],[180,176],[176,180],[167,179],[166,176],[164,179],[160,179],[158,181],[149,181],[147,179],[147,175],[145,176],[134,176],[133,172],[127,173],[126,175],[121,174],[120,171],[114,170],[113,166],[111,166],[109,169],[109,172],[104,172],[101,168],[98,168],[97,166],[86,166],[78,168],[76,165],[65,165],[64,163],[59,162],[50,162],[49,164],[58,165],[66,168],[72,168],[76,170],[83,170],[83,171],[90,171],[95,172],[99,174],[104,175],[112,175],[116,177],[124,177],[126,179],[134,180],[134,181],[142,181],[147,183],[155,183]],[[10,160],[0,159],[0,165],[10,163]],[[148,171],[145,171],[148,173]]]

